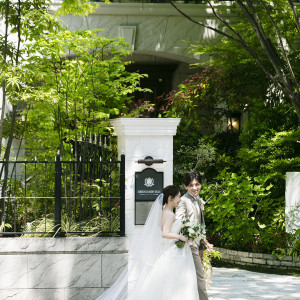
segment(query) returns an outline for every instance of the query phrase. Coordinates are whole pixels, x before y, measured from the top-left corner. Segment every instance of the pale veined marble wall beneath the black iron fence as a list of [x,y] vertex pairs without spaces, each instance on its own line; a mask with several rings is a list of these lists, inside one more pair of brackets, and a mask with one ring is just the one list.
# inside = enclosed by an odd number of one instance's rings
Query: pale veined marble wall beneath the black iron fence
[[95,299],[127,256],[127,238],[0,238],[0,300]]

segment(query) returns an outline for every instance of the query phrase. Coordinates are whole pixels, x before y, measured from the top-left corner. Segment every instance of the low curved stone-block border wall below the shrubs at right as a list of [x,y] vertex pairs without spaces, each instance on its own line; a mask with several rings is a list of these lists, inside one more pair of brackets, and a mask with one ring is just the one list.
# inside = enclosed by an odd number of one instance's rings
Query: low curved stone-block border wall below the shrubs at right
[[292,256],[285,256],[279,259],[278,256],[264,253],[242,252],[217,248],[222,253],[222,261],[237,265],[263,266],[278,269],[300,270],[300,260],[293,260]]

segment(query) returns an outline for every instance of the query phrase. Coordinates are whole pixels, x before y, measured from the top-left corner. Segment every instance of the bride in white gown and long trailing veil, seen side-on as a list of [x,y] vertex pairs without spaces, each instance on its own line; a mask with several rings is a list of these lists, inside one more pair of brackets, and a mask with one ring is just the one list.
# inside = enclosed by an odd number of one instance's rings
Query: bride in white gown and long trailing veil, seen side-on
[[142,232],[133,243],[126,268],[96,300],[199,300],[197,276],[190,247],[180,235],[182,223],[173,212],[179,188],[169,185],[157,197]]

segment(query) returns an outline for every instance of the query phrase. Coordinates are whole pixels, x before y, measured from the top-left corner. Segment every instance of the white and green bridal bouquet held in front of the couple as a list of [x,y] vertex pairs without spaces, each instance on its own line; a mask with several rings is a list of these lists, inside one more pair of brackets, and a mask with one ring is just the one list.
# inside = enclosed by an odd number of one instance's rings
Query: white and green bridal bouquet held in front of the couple
[[[201,240],[206,239],[205,225],[198,224],[197,220],[190,221],[186,219],[182,222],[181,234],[186,236],[190,241],[195,241],[197,244]],[[175,242],[178,248],[182,248],[184,246],[183,241]]]

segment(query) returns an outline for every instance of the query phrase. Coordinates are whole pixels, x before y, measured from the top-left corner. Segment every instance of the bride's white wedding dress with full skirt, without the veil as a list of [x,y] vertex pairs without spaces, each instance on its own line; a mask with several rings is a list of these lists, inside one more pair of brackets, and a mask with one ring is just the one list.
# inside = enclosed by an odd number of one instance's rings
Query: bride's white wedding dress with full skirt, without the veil
[[[171,232],[179,234],[181,221],[175,220]],[[199,300],[197,276],[189,245],[175,245],[174,239],[163,239],[162,249],[153,269],[127,300]]]

